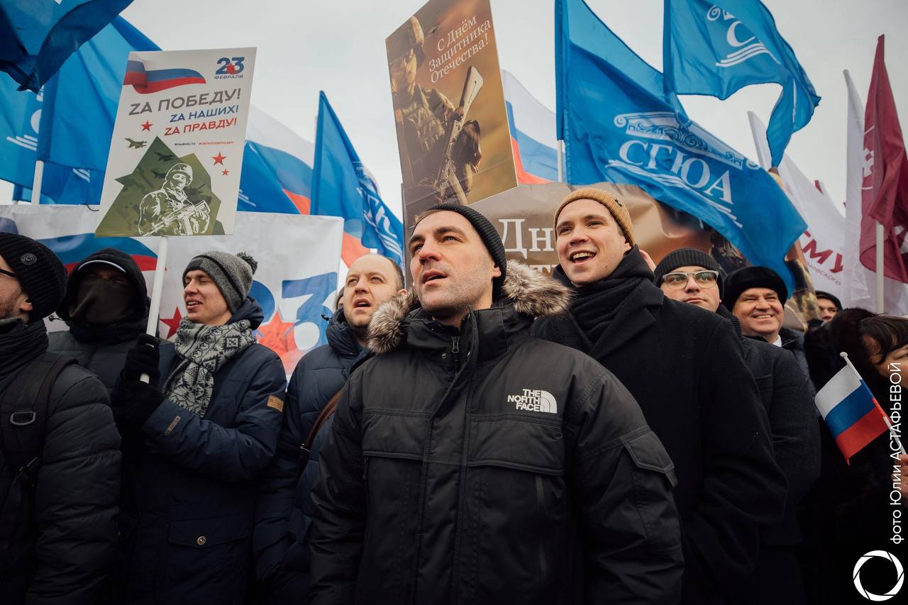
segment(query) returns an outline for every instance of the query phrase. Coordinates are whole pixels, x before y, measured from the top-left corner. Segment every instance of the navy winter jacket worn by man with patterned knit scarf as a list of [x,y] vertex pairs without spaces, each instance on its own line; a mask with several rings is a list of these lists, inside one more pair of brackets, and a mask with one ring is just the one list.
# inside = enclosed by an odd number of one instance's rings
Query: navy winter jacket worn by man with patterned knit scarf
[[[252,298],[230,321],[243,319],[253,329],[262,322]],[[162,388],[179,362],[164,343]],[[143,424],[143,446],[140,437],[137,451],[124,448],[123,602],[243,602],[255,497],[277,446],[285,380],[278,356],[252,344],[214,374],[204,418],[164,399]]]

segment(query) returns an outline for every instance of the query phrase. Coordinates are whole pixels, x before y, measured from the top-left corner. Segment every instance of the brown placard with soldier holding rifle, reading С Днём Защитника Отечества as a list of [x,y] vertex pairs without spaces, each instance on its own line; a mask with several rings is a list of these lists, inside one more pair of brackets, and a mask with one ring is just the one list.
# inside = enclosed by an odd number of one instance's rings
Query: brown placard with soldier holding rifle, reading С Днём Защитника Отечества
[[385,45],[405,223],[516,186],[489,0],[429,0]]

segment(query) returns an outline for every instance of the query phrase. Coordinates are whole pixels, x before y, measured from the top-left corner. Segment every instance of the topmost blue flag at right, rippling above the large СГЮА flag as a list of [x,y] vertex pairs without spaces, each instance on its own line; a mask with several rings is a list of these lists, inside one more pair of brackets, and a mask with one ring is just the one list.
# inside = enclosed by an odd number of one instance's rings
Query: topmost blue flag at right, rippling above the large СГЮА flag
[[748,84],[776,83],[782,94],[766,129],[774,166],[820,97],[795,51],[758,0],[665,0],[666,92],[725,99]]

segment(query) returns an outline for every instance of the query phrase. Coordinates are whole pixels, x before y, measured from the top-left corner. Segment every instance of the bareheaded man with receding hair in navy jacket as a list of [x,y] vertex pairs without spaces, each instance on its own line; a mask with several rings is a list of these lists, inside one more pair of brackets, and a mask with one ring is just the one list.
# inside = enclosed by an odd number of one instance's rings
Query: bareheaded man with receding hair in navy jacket
[[322,424],[305,468],[299,469],[306,441],[325,403],[341,391],[350,368],[369,354],[367,332],[372,313],[392,296],[406,293],[400,265],[379,254],[350,264],[341,309],[326,332],[328,344],[306,353],[290,379],[281,443],[256,511],[256,576],[273,604],[298,603],[309,590],[309,545],[303,541],[311,521],[310,491],[318,476],[321,441],[331,426]]

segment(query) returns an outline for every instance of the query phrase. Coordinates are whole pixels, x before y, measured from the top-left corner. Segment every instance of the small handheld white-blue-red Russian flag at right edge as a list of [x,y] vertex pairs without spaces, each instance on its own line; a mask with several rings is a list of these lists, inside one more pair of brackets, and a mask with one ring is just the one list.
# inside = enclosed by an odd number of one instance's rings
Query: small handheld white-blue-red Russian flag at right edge
[[849,464],[854,454],[889,428],[873,392],[849,363],[816,393],[815,402]]

